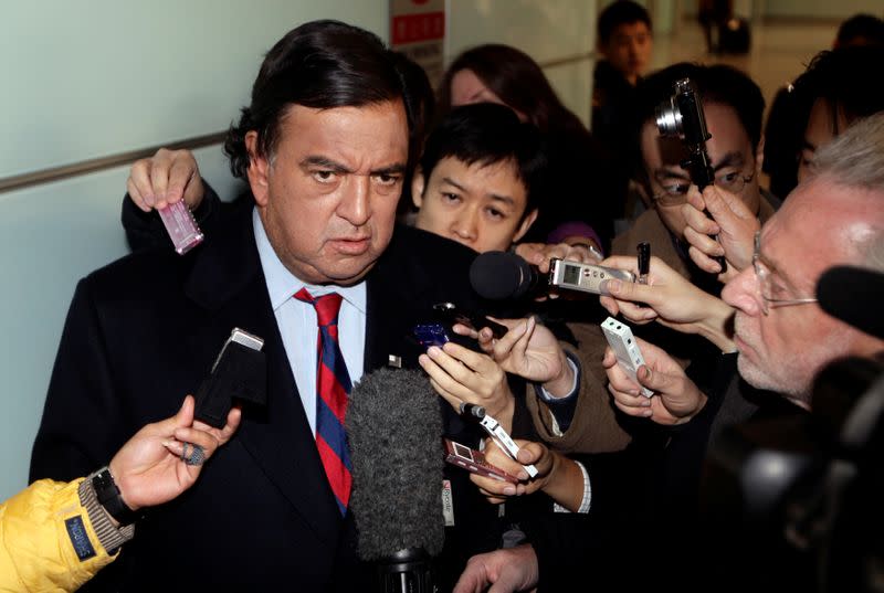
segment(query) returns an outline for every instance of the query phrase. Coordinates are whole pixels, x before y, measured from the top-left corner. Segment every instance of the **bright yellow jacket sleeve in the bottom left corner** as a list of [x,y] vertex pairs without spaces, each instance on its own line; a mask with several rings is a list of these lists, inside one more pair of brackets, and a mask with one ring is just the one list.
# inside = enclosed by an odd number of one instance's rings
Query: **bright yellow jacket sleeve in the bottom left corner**
[[42,479],[0,505],[0,592],[75,591],[116,559],[80,504],[81,481]]

